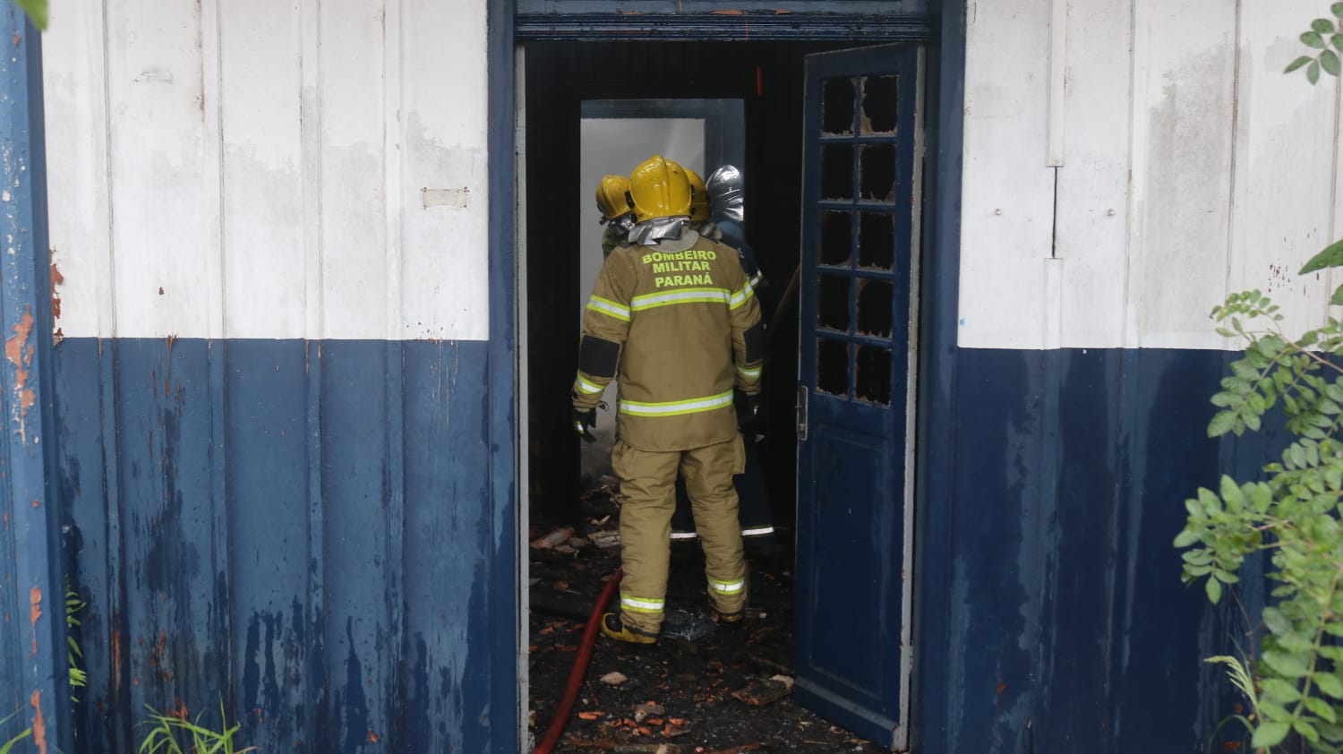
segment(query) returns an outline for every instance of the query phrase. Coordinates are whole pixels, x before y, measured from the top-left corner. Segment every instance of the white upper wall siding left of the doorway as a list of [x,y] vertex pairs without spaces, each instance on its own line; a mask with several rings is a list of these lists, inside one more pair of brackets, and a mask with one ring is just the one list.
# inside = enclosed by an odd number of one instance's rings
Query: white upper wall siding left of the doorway
[[64,336],[488,337],[485,0],[51,12]]

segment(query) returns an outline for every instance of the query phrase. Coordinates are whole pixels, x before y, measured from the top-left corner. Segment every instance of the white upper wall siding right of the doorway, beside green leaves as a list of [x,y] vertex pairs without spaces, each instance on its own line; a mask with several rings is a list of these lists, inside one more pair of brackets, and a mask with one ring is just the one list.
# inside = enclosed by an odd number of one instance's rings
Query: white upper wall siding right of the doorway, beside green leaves
[[1343,276],[1295,273],[1343,235],[1339,83],[1281,71],[1327,9],[971,3],[960,345],[1222,348],[1252,288],[1322,321]]

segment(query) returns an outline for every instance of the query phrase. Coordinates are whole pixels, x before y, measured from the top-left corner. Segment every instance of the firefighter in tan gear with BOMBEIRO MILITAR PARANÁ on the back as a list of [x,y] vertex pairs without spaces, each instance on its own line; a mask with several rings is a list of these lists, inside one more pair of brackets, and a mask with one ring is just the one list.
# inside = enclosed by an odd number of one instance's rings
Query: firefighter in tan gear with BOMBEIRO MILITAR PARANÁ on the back
[[602,617],[602,633],[653,644],[663,616],[677,473],[690,493],[719,620],[740,620],[745,608],[732,487],[744,449],[733,391],[753,406],[764,328],[736,250],[692,228],[684,169],[650,157],[630,175],[630,198],[638,224],[603,265],[583,316],[573,425],[590,434],[602,391],[618,379],[611,465],[626,499],[624,579],[619,613]]

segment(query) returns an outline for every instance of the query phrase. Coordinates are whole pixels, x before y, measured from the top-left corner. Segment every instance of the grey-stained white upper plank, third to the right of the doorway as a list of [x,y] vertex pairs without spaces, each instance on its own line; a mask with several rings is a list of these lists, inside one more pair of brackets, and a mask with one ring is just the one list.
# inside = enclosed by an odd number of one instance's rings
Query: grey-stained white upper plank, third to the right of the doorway
[[1129,250],[1138,341],[1127,345],[1217,348],[1207,310],[1223,285],[1207,281],[1221,281],[1228,265],[1237,4],[1138,4],[1146,75],[1133,82],[1133,108],[1146,133],[1135,155],[1142,230]]

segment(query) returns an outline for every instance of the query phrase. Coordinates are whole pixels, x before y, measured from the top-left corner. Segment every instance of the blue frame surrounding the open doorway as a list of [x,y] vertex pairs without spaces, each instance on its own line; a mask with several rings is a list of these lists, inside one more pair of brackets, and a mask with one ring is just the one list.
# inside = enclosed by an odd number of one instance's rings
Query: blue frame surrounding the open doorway
[[[927,44],[925,168],[923,266],[915,429],[915,531],[911,585],[913,663],[911,667],[909,742],[921,750],[945,749],[952,685],[947,673],[947,598],[951,577],[952,422],[955,418],[956,321],[960,278],[960,203],[964,146],[966,3],[931,0],[923,20],[839,13],[790,13],[786,20],[759,16],[657,16],[631,19],[607,13],[526,15],[514,0],[486,0],[489,60],[489,417],[492,560],[490,718],[496,750],[521,746],[526,737],[526,547],[525,392],[526,270],[518,207],[525,196],[525,164],[518,152],[521,97],[517,66],[522,42],[564,39],[833,39],[854,43],[921,40]],[[825,5],[823,1],[818,5]],[[610,16],[616,16],[612,20]],[[620,20],[623,17],[623,20]],[[855,23],[861,22],[861,23]],[[498,630],[512,626],[512,630]]]

